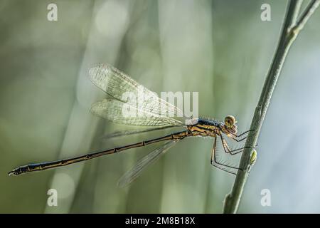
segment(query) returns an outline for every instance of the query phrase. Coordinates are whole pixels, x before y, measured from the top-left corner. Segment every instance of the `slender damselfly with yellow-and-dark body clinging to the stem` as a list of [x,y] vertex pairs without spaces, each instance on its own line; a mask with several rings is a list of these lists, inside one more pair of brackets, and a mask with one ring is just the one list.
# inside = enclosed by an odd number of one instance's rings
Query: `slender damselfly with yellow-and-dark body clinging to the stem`
[[[167,150],[176,145],[176,142],[193,136],[213,138],[210,160],[213,166],[233,174],[235,174],[239,169],[238,167],[226,165],[225,163],[218,161],[216,156],[217,140],[222,142],[223,150],[230,155],[238,154],[245,149],[245,147],[240,147],[236,150],[231,150],[225,140],[226,136],[236,142],[240,142],[247,138],[246,133],[250,131],[248,130],[245,133],[237,135],[238,130],[236,120],[232,115],[226,116],[224,122],[209,120],[206,118],[192,118],[188,123],[183,123],[183,121],[178,120],[178,118],[174,118],[174,114],[178,115],[182,113],[180,109],[171,103],[166,102],[166,100],[159,98],[155,93],[151,92],[151,90],[140,85],[137,81],[134,81],[126,74],[117,70],[117,68],[107,64],[99,64],[90,68],[89,76],[95,86],[105,91],[105,93],[111,97],[111,99],[105,99],[92,104],[91,112],[93,114],[106,118],[107,120],[111,120],[114,123],[154,127],[151,129],[126,130],[122,133],[115,133],[112,137],[146,133],[153,130],[163,130],[176,127],[183,128],[183,130],[169,135],[164,135],[160,138],[144,140],[142,142],[124,145],[122,147],[115,147],[109,150],[90,152],[78,157],[56,160],[53,162],[40,162],[23,165],[9,172],[9,175],[20,175],[25,172],[47,170],[54,167],[90,160],[102,155],[122,152],[135,147],[144,147],[156,142],[164,142],[164,144],[143,157],[142,160],[139,160],[137,165],[122,176],[119,180],[119,185],[125,186],[137,178],[146,166],[151,164],[151,162],[156,161],[161,155],[164,155]],[[131,93],[138,99],[128,99],[128,97],[124,98],[124,93]],[[139,98],[139,95],[141,97],[141,94],[143,95],[143,99]],[[135,113],[139,113],[139,115],[124,115],[124,105],[131,111],[136,111]],[[164,115],[163,110],[165,110],[166,115]]]

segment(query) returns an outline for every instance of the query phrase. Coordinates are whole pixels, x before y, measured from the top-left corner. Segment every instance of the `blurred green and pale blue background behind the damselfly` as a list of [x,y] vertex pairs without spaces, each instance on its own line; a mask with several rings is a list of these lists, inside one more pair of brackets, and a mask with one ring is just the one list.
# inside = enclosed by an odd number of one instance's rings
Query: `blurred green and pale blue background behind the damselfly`
[[[58,21],[47,20],[50,3],[58,5]],[[261,21],[263,3],[270,4],[272,21]],[[1,0],[0,212],[220,213],[235,177],[210,165],[210,139],[179,142],[124,189],[117,187],[119,177],[154,147],[18,177],[7,173],[162,135],[103,140],[128,127],[90,114],[91,103],[105,97],[87,78],[95,63],[111,63],[157,93],[198,91],[201,116],[235,115],[247,130],[286,5]],[[320,212],[319,41],[318,10],[287,56],[241,213]],[[51,188],[58,207],[47,205]],[[260,204],[264,189],[271,192],[270,207]]]

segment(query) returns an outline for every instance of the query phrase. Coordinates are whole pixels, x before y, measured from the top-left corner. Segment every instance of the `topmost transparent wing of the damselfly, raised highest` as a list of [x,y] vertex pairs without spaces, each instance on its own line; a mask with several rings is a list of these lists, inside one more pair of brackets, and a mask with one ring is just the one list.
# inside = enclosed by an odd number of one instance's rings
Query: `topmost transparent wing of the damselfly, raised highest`
[[140,110],[155,115],[183,117],[183,112],[171,103],[159,98],[155,93],[134,81],[117,68],[107,64],[98,64],[90,68],[92,83],[108,95]]

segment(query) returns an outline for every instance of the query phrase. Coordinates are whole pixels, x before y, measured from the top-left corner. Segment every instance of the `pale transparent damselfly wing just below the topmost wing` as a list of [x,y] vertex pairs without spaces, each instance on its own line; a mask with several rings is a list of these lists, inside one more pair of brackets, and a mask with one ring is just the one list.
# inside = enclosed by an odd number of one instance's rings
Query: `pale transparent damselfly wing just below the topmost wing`
[[174,118],[139,110],[128,103],[114,99],[105,99],[93,103],[90,112],[114,123],[125,125],[182,125],[180,121]]

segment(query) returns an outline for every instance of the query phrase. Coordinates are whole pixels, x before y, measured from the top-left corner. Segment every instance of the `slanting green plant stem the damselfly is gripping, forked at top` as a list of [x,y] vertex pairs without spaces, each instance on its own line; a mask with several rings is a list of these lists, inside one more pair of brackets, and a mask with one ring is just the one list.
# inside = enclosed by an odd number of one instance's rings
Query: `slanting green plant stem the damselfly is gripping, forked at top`
[[250,156],[252,149],[257,144],[257,138],[262,127],[263,120],[267,113],[274,87],[276,86],[279,73],[282,69],[284,60],[287,56],[290,46],[292,45],[298,33],[302,30],[306,21],[310,18],[311,14],[314,13],[315,9],[319,6],[320,0],[310,1],[309,5],[302,13],[302,16],[298,19],[299,9],[302,4],[302,0],[291,0],[287,6],[287,13],[284,18],[282,26],[282,33],[279,38],[277,50],[274,53],[272,64],[267,73],[265,84],[262,88],[260,100],[255,108],[255,113],[252,118],[250,129],[251,131],[245,142],[246,149],[242,152],[240,160],[240,169],[238,170],[235,182],[233,184],[233,190],[225,196],[225,204],[223,207],[223,213],[236,213],[240,204],[245,182],[249,174],[250,168]]

